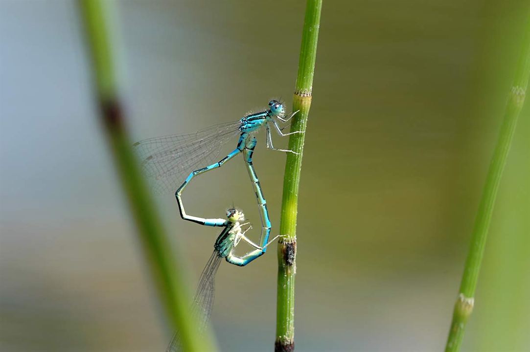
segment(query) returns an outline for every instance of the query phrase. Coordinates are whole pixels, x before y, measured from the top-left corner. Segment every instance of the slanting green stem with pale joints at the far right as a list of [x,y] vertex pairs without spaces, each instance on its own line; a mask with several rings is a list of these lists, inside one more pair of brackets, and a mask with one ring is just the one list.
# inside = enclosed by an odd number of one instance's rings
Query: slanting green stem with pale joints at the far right
[[471,246],[460,284],[460,293],[458,294],[454,307],[453,320],[445,348],[447,352],[460,350],[465,324],[473,311],[476,282],[478,281],[480,265],[484,255],[491,214],[493,212],[502,170],[504,170],[508,151],[510,150],[511,139],[514,136],[517,118],[525,100],[528,76],[530,76],[530,14],[522,37],[521,56],[517,66],[514,84],[510,91],[504,119],[499,132],[499,139],[493,151],[490,168],[482,191],[482,198],[471,237]]

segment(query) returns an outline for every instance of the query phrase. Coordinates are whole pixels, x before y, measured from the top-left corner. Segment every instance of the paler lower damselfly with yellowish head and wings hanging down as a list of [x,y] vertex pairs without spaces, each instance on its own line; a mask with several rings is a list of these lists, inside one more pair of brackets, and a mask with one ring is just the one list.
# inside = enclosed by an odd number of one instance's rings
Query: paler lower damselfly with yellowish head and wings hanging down
[[[211,317],[211,310],[214,304],[215,286],[214,278],[221,263],[221,259],[225,258],[228,263],[240,265],[249,256],[253,256],[258,252],[263,252],[268,245],[279,236],[276,236],[268,243],[263,243],[262,246],[257,245],[245,236],[246,231],[252,228],[250,223],[245,222],[245,215],[243,212],[234,208],[228,209],[226,212],[227,220],[224,219],[197,219],[195,221],[206,226],[223,227],[223,230],[217,237],[214,245],[214,252],[211,254],[206,267],[202,270],[195,296],[193,296],[193,303],[191,306],[191,314],[198,323],[197,330],[199,333],[204,332]],[[268,220],[268,219],[267,219]],[[248,225],[246,229],[243,227]],[[242,257],[238,257],[233,253],[234,248],[238,243],[244,240],[255,249]],[[167,346],[166,352],[180,351],[180,336],[179,332],[175,332],[173,338]]]

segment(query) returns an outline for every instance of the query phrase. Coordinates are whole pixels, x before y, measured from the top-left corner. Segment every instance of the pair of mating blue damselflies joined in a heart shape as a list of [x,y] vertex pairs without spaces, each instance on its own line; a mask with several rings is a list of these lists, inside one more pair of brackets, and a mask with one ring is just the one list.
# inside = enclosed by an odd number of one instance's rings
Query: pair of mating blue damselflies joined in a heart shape
[[[265,127],[267,148],[298,154],[293,150],[274,148],[270,131],[271,128],[274,128],[280,136],[303,133],[302,131],[283,133],[282,128],[280,128],[280,123],[288,122],[296,113],[294,112],[286,117],[284,105],[279,101],[271,100],[267,110],[245,115],[242,119],[235,122],[218,124],[195,134],[150,138],[134,144],[142,160],[144,172],[157,181],[154,186],[155,191],[157,193],[163,193],[164,191],[175,192],[182,219],[201,225],[223,227],[215,242],[214,252],[202,272],[199,285],[193,297],[191,313],[196,316],[197,321],[200,321],[197,327],[199,331],[205,329],[210,319],[214,300],[214,276],[219,267],[220,259],[225,258],[228,263],[245,266],[263,255],[269,243],[278,238],[276,236],[269,242],[271,223],[267,202],[252,164],[252,154],[257,144],[254,132]],[[214,162],[219,155],[220,148],[228,141],[235,140],[236,136],[239,136],[236,148],[224,158]],[[243,155],[258,201],[262,228],[259,245],[245,236],[245,232],[251,227],[249,223],[241,223],[241,221],[244,221],[242,212],[232,208],[227,211],[227,220],[205,219],[188,215],[182,203],[182,192],[193,177],[223,166],[226,161],[240,153]],[[209,165],[198,168],[205,164]],[[188,173],[190,174],[188,175]],[[188,176],[184,179],[186,175]],[[249,225],[249,227],[243,230],[244,225]],[[242,239],[254,249],[243,256],[236,256],[233,254],[233,250]],[[179,336],[178,332],[176,332],[167,351],[177,351],[179,349]]]

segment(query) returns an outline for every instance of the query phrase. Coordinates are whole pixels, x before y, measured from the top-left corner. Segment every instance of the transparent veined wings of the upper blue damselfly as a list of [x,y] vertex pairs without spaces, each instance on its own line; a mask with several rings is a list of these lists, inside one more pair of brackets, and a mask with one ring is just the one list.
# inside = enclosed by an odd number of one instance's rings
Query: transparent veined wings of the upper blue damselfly
[[197,133],[149,138],[134,143],[144,173],[156,193],[175,192],[195,169],[217,161],[221,147],[238,134],[240,122],[218,124]]

